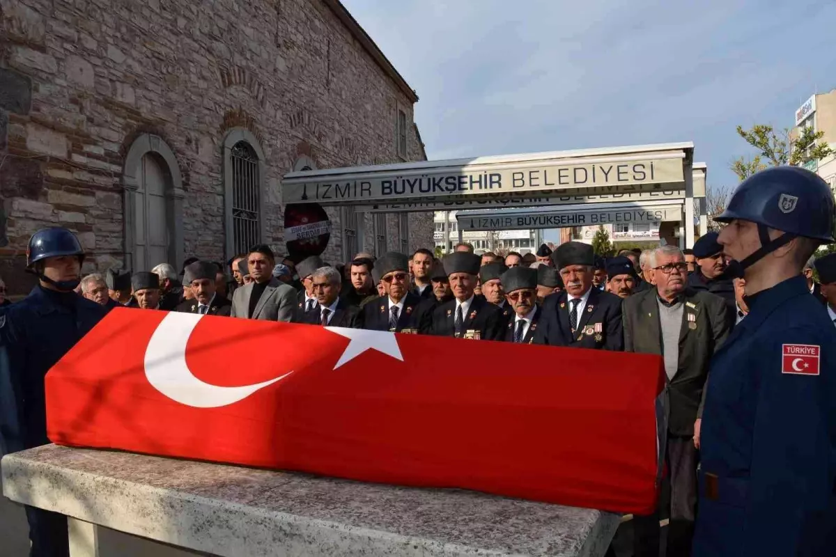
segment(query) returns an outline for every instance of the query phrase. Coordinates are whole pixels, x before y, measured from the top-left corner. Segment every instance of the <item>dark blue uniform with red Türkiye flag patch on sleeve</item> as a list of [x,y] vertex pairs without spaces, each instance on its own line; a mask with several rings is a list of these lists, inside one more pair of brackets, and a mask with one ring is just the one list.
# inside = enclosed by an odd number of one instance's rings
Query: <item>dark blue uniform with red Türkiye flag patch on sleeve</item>
[[836,554],[836,329],[803,276],[716,352],[699,475],[695,557]]

